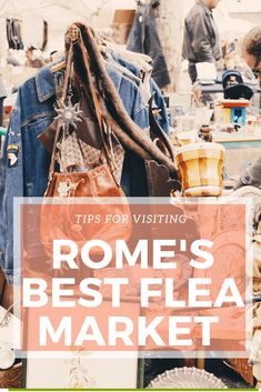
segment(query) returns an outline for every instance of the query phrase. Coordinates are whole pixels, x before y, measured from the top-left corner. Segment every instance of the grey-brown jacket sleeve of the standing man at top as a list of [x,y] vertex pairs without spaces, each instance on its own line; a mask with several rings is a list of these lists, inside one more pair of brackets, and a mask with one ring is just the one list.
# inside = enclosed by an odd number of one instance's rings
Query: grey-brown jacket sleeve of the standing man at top
[[214,62],[213,48],[211,46],[211,38],[208,29],[207,17],[198,13],[192,21],[193,37],[192,48],[195,54],[197,62]]

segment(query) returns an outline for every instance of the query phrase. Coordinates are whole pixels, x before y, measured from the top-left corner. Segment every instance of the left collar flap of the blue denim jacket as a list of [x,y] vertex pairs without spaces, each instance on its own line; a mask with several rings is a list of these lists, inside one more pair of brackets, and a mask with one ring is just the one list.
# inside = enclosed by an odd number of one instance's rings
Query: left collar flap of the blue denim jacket
[[36,87],[40,103],[56,96],[56,83],[50,66],[43,67],[37,72]]

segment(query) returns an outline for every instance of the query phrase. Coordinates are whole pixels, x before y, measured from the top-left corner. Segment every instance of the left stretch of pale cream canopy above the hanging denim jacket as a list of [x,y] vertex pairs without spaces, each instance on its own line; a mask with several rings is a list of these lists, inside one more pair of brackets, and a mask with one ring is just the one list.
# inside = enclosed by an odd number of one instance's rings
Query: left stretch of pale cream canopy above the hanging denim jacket
[[[134,0],[0,0],[0,20],[2,21],[0,29],[6,31],[3,21],[7,18],[21,19],[27,27],[29,22],[31,23],[32,33],[27,36],[33,39],[33,31],[37,34],[41,30],[40,20],[46,20],[49,24],[48,51],[60,50],[63,48],[63,34],[70,23],[81,21],[96,26],[103,9],[110,8],[111,12],[107,17],[109,27],[113,9],[133,8],[134,4]],[[30,44],[28,39],[24,43]],[[3,49],[2,44],[1,49]]]

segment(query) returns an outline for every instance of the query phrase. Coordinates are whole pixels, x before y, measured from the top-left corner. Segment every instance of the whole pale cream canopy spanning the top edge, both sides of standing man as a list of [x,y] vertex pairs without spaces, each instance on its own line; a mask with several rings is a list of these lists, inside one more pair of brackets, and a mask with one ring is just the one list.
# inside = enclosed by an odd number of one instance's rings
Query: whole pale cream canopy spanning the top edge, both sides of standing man
[[[144,1],[144,0],[143,0]],[[145,0],[147,1],[147,0]],[[172,1],[172,0],[168,0]],[[195,0],[183,0],[184,16]],[[0,0],[0,31],[6,31],[7,18],[18,18],[24,21],[28,31],[26,47],[34,34],[41,30],[43,19],[49,23],[49,44],[47,50],[61,50],[67,27],[74,21],[82,21],[93,27],[109,27],[113,10],[135,7],[135,0]],[[261,12],[261,1],[225,0],[217,9],[220,32],[223,36],[241,36],[249,31],[252,23],[245,20],[232,19],[229,12]],[[2,23],[1,23],[2,21]],[[31,24],[28,30],[28,26]],[[0,34],[0,48],[3,49],[6,34]],[[40,39],[39,39],[40,40]]]

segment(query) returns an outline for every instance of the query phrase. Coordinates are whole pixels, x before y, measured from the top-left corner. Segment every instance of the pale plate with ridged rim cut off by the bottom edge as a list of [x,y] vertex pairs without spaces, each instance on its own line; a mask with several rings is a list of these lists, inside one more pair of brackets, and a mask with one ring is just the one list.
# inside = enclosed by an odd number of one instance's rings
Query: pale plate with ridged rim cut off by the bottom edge
[[148,389],[227,389],[222,380],[197,368],[175,368],[151,381]]

